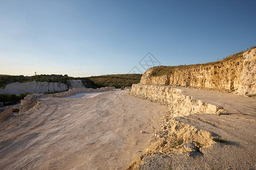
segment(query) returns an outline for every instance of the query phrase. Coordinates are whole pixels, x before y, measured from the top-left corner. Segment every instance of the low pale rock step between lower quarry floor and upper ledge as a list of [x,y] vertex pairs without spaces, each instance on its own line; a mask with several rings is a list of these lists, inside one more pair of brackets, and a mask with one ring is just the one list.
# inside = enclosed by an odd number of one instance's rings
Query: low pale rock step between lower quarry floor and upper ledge
[[170,86],[133,84],[130,94],[169,105],[173,116],[189,116],[193,113],[219,113],[222,107],[195,100],[182,94],[182,90]]

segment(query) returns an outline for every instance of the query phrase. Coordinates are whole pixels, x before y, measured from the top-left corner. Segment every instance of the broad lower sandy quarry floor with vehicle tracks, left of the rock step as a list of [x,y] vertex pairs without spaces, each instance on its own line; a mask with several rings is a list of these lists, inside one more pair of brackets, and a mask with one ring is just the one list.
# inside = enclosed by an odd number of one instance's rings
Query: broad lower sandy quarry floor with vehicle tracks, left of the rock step
[[1,169],[125,169],[168,110],[127,93],[40,99],[44,107],[0,125]]

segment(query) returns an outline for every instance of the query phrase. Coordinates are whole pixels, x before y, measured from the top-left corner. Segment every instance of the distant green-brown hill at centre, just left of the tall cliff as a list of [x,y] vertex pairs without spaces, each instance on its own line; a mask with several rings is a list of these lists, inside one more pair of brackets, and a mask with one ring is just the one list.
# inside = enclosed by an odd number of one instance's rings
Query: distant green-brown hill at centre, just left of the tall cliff
[[137,84],[141,80],[142,74],[113,74],[113,75],[101,75],[90,76],[88,79],[93,80],[98,86],[114,86],[120,88],[122,86],[131,86],[131,84]]

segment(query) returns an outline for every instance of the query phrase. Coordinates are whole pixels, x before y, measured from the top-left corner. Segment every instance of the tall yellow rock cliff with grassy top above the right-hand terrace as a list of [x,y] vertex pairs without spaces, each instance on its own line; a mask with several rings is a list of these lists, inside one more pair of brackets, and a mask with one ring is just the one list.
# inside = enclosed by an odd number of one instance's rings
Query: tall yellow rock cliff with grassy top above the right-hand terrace
[[[140,84],[190,86],[213,90],[238,90],[238,94],[256,94],[256,48],[238,53],[220,62],[203,65],[152,67],[141,78]],[[168,70],[169,69],[169,70]],[[167,70],[162,74],[158,74]]]

